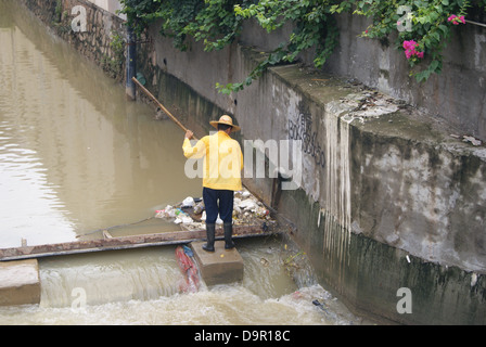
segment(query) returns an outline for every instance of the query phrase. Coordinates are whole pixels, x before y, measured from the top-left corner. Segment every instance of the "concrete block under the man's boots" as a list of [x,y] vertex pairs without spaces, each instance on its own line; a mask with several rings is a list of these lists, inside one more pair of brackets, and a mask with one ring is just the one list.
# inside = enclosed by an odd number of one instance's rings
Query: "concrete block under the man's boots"
[[215,252],[202,248],[205,242],[193,242],[191,247],[207,285],[231,283],[243,280],[243,258],[236,248],[226,250],[223,241],[215,242]]

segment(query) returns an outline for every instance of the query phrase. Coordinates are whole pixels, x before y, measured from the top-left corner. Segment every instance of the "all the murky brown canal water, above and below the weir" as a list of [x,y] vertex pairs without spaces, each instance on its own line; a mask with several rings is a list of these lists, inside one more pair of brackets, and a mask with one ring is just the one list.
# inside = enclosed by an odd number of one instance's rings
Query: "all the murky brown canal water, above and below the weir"
[[[76,240],[186,196],[183,133],[0,0],[0,247]],[[153,220],[123,233],[174,230]],[[94,235],[95,236],[95,235]],[[175,247],[39,260],[41,303],[0,307],[1,324],[349,324],[361,320],[302,269],[282,240],[241,241],[242,283],[179,293]],[[327,310],[311,304],[325,303]]]

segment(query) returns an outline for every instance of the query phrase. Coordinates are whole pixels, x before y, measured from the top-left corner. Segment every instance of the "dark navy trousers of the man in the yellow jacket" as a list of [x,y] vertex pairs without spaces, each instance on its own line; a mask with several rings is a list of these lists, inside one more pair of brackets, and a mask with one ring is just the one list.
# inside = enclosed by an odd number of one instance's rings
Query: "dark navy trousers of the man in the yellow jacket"
[[233,191],[203,187],[206,223],[214,224],[218,218],[218,213],[219,218],[221,218],[225,223],[231,223],[233,221]]

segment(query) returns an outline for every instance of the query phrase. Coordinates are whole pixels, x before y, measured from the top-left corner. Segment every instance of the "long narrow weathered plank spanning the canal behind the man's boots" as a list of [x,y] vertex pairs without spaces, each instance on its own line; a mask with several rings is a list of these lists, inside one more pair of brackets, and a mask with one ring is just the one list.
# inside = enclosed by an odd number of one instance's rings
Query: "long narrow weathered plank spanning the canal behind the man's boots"
[[[233,226],[233,237],[265,236],[276,232],[264,232],[260,226]],[[216,229],[216,239],[222,239],[222,228]],[[18,260],[79,253],[128,249],[170,244],[182,244],[206,237],[206,230],[182,230],[155,234],[104,237],[34,246],[0,248],[0,260]]]

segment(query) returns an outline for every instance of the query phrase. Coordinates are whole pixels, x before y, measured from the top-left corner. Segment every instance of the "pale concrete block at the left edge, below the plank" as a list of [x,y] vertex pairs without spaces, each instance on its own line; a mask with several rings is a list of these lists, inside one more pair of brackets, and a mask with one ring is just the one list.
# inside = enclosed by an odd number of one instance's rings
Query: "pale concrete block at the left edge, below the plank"
[[40,303],[37,259],[0,262],[0,306]]

